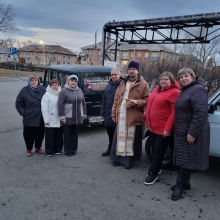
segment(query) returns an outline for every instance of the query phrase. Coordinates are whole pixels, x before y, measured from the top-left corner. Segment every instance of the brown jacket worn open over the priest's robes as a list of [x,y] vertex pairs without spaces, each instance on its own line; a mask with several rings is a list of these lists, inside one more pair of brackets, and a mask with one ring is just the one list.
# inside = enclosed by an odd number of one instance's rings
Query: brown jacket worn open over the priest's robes
[[[114,103],[112,106],[112,118],[116,118],[118,123],[120,106],[123,100],[123,95],[126,88],[126,83],[129,80],[129,76],[121,81],[116,90]],[[126,125],[141,125],[144,123],[144,110],[146,106],[146,99],[149,96],[147,82],[138,75],[138,79],[135,84],[130,88],[128,98],[137,100],[137,104],[127,109]]]

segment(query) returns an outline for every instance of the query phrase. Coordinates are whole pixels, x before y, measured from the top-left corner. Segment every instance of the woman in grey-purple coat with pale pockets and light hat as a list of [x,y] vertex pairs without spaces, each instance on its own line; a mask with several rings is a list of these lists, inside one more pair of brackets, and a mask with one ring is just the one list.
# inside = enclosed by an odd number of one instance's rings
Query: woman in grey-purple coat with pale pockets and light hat
[[76,155],[79,125],[86,117],[86,103],[82,90],[77,85],[78,77],[70,75],[58,98],[58,114],[63,123],[64,152]]

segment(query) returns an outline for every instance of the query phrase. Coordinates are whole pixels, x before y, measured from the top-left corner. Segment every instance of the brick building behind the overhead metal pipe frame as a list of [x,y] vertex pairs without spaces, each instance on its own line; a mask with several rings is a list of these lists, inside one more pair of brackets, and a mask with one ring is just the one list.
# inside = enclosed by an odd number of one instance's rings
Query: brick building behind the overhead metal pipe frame
[[[96,50],[95,44],[82,47],[81,63],[84,65],[99,65],[101,47],[101,42],[96,45]],[[118,43],[116,62],[118,64],[117,66],[120,68],[127,65],[131,60],[159,62],[165,57],[172,59],[175,55],[174,51],[161,44]],[[114,46],[110,47],[110,53],[108,56],[111,60],[114,60]]]

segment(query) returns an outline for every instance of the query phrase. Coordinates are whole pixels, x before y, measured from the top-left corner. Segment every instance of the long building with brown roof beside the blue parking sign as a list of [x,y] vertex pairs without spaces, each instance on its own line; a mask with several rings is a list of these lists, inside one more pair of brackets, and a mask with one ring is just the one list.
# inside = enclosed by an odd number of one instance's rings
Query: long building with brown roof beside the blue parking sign
[[55,65],[77,62],[77,54],[59,45],[29,45],[18,50],[20,63]]

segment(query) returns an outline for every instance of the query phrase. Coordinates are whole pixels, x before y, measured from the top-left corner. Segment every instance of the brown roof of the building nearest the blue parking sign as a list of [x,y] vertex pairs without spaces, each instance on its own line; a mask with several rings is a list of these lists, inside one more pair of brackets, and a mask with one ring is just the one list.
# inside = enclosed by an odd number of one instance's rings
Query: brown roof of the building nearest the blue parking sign
[[[26,47],[19,48],[18,50],[23,52],[42,53],[43,45],[29,45]],[[60,45],[44,45],[44,52],[77,56],[77,54],[71,52],[70,50],[64,47],[61,47]]]

